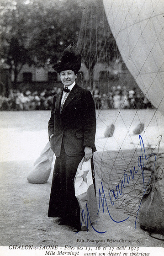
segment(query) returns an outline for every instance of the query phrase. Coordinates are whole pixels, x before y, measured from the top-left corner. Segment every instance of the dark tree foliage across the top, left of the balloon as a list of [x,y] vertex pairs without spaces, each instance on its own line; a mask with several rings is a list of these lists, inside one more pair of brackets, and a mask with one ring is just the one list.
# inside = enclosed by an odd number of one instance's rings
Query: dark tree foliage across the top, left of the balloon
[[116,58],[102,0],[1,0],[0,38],[0,59],[14,71],[15,82],[25,63],[56,62],[72,41],[78,41],[91,77],[97,61]]

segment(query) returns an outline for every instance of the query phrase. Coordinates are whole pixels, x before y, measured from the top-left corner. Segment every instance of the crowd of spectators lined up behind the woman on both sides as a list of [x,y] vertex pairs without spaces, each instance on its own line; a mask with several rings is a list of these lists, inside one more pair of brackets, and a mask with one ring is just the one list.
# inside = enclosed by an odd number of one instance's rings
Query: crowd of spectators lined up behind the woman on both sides
[[[88,88],[90,89],[90,88]],[[53,96],[61,91],[54,87],[53,90],[44,90],[41,93],[29,90],[24,93],[19,90],[10,90],[8,96],[0,95],[1,111],[19,110],[50,110]],[[111,91],[100,94],[98,88],[90,90],[95,101],[96,109],[138,109],[152,107],[146,97],[141,92],[133,90],[127,91],[125,87],[113,86]]]

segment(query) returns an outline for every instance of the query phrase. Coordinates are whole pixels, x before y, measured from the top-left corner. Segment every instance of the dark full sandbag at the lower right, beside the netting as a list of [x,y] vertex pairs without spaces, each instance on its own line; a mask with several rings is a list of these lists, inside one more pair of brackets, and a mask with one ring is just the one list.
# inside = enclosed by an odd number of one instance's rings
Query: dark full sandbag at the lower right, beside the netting
[[164,235],[164,200],[157,183],[149,185],[139,209],[141,229]]

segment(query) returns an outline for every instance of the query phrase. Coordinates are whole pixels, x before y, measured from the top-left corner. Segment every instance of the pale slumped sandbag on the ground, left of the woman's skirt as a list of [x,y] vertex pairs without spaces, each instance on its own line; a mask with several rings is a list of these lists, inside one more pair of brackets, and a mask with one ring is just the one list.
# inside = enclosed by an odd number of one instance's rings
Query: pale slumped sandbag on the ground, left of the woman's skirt
[[28,174],[27,181],[35,184],[46,183],[51,173],[53,155],[50,142],[48,142],[42,150],[41,155],[35,161],[32,171]]

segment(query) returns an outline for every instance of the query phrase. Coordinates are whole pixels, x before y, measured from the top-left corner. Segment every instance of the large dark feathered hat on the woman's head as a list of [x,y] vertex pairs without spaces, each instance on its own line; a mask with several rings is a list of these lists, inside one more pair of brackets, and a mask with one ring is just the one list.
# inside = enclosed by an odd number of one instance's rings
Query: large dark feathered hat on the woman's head
[[61,59],[53,65],[53,69],[60,73],[64,70],[73,70],[75,74],[78,73],[81,67],[81,55],[77,48],[70,44],[64,51]]

